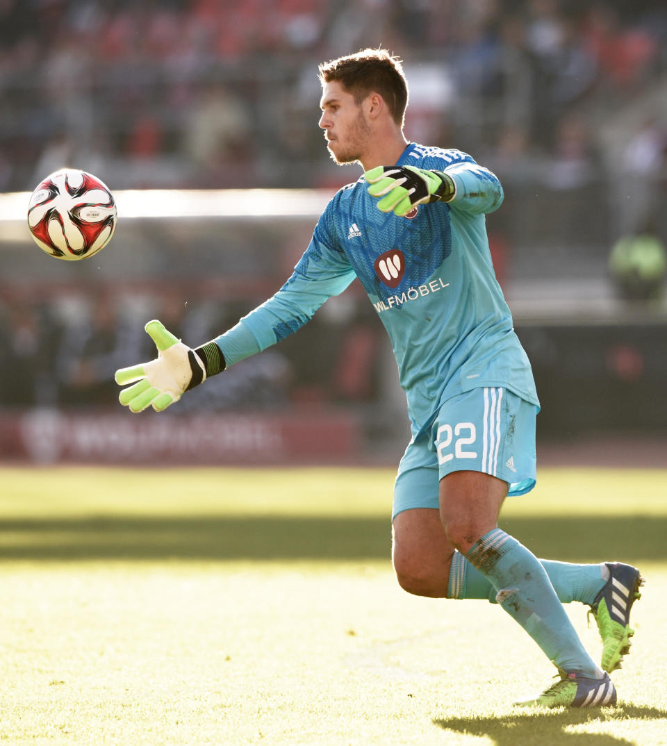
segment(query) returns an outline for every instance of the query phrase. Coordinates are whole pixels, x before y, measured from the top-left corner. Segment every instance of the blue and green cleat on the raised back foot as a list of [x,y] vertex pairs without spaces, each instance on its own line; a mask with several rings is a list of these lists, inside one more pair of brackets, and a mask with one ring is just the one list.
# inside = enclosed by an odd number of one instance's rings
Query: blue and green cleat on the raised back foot
[[595,597],[589,614],[595,617],[602,638],[602,668],[610,674],[621,668],[621,661],[630,652],[630,609],[642,597],[639,587],[644,579],[632,565],[607,562],[610,578]]

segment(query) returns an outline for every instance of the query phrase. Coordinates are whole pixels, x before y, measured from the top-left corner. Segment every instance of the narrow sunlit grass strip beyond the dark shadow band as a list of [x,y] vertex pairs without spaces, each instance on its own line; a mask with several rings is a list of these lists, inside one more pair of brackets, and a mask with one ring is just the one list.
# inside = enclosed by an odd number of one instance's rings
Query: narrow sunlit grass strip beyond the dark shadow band
[[[393,468],[0,467],[13,515],[389,515]],[[666,515],[667,468],[542,468],[512,515]]]

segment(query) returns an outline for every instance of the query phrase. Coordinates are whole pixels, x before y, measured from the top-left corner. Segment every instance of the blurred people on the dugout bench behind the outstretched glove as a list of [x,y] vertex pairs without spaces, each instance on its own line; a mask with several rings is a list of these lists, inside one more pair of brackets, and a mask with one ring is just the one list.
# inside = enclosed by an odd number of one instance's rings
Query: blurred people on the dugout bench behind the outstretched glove
[[[167,285],[134,294],[138,310],[118,289],[90,290],[40,299],[5,296],[9,302],[0,306],[0,410],[114,407],[118,387],[113,372],[155,357],[143,330],[146,320],[159,318],[184,341],[203,342],[234,325],[251,302],[195,298],[184,304],[184,289]],[[369,304],[355,296],[332,301],[297,336],[232,366],[224,380],[189,392],[178,413],[377,402],[383,362],[378,325]],[[255,302],[260,300],[257,296]],[[347,323],[341,323],[343,318]]]

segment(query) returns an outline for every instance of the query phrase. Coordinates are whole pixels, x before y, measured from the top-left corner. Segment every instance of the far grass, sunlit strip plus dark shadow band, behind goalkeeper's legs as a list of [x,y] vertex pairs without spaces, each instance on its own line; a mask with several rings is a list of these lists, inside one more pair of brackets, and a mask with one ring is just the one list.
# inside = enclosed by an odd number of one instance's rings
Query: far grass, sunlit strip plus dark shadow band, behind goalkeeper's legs
[[[392,469],[0,470],[0,560],[386,560]],[[667,560],[667,470],[544,469],[501,525],[542,557]]]

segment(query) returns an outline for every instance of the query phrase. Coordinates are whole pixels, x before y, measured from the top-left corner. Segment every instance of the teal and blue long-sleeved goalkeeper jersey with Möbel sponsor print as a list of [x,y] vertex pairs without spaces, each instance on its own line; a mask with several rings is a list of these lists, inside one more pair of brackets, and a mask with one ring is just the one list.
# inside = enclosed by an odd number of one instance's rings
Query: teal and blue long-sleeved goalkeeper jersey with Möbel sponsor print
[[295,332],[359,278],[389,334],[414,436],[470,389],[504,386],[539,404],[486,237],[500,182],[461,151],[415,143],[397,165],[447,172],[454,199],[399,218],[378,210],[363,177],[344,186],[284,286],[215,340],[227,364]]

